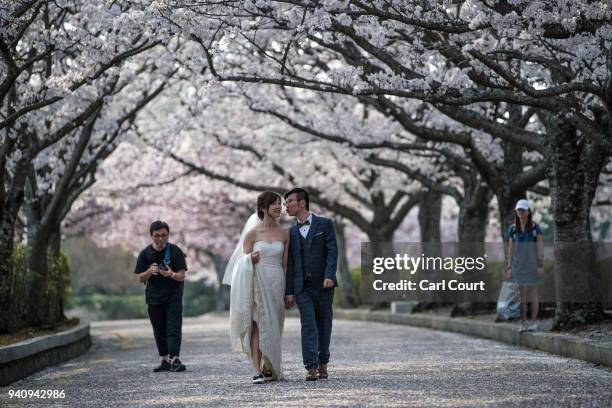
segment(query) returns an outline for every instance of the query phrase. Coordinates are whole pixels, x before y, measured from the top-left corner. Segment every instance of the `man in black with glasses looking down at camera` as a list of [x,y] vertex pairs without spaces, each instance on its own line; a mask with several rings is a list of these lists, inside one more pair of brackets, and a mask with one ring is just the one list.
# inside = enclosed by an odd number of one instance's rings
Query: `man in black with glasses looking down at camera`
[[153,243],[138,255],[134,273],[138,274],[140,282],[146,284],[149,318],[162,358],[161,364],[153,371],[185,371],[185,365],[179,360],[183,281],[187,270],[185,254],[168,242],[170,227],[165,222],[153,222],[149,232]]

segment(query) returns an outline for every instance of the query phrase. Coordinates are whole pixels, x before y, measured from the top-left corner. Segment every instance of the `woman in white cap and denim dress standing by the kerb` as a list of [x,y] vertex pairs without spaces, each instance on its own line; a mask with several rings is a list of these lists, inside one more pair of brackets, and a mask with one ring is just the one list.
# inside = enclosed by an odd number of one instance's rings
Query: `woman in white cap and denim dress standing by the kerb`
[[[516,203],[514,224],[508,227],[508,279],[519,285],[521,292],[520,331],[539,329],[538,285],[544,277],[544,256],[542,251],[542,231],[533,222],[529,201],[522,199]],[[527,320],[527,303],[531,304],[531,319]]]

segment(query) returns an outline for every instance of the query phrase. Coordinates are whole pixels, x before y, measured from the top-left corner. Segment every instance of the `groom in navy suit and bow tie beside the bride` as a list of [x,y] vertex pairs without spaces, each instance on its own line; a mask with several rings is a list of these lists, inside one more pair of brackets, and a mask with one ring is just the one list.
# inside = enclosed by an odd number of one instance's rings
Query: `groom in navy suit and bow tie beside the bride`
[[298,222],[289,232],[285,303],[297,302],[302,324],[302,358],[307,381],[326,379],[338,247],[334,224],[309,212],[306,190],[285,194],[287,214]]

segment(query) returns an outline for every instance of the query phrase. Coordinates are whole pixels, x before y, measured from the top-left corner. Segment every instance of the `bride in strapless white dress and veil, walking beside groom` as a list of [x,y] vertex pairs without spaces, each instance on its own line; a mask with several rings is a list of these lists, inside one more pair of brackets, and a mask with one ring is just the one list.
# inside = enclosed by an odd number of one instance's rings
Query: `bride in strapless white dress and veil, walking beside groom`
[[265,191],[257,197],[257,214],[244,226],[223,277],[223,283],[232,287],[232,349],[250,358],[253,384],[283,378],[281,338],[289,230],[278,224],[281,208],[276,193]]

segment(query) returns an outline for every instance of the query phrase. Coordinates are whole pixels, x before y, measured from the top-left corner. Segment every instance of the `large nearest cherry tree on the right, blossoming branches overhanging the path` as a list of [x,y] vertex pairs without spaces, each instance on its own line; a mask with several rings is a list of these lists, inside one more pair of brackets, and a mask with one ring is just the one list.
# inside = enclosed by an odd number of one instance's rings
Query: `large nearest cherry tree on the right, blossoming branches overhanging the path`
[[[202,1],[157,6],[177,32],[202,46],[217,81],[370,96],[391,111],[417,100],[501,139],[507,157],[521,168],[525,149],[538,152],[543,165],[525,178],[532,185],[544,172],[550,187],[557,294],[568,299],[567,291],[576,287],[584,294],[592,289],[589,251],[580,251],[586,267],[576,276],[570,267],[575,251],[566,244],[591,242],[590,208],[610,157],[612,12],[606,2]],[[321,54],[328,55],[333,68],[326,64],[321,69]],[[254,56],[259,57],[257,67]],[[501,117],[483,113],[498,108]],[[404,109],[396,115],[410,119]],[[476,154],[473,138],[458,141]],[[516,174],[512,167],[504,171]],[[479,171],[497,181],[486,169]],[[500,209],[524,190],[510,198],[498,193]],[[500,213],[505,218],[510,212]],[[602,317],[597,302],[562,301],[556,322],[571,327]]]

